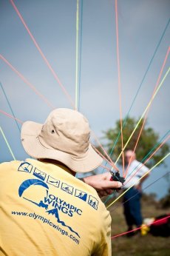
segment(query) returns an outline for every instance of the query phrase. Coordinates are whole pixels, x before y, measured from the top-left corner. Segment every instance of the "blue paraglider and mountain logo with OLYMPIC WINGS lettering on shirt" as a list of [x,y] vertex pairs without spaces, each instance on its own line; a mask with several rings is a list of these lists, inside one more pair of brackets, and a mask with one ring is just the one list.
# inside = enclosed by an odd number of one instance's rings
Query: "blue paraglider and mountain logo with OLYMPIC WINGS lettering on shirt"
[[[38,193],[35,193],[33,190],[35,189],[35,186],[41,186],[43,190],[40,191],[40,189],[38,188]],[[54,215],[58,223],[61,223],[62,226],[66,226],[71,232],[78,235],[78,233],[75,232],[70,226],[67,226],[63,220],[60,220],[58,209],[64,214],[69,215],[69,217],[72,217],[73,210],[78,215],[81,215],[82,213],[81,209],[77,209],[75,206],[69,205],[67,202],[61,200],[60,198],[56,198],[54,195],[49,195],[49,198],[55,198],[55,203],[54,203],[54,200],[50,201],[48,199],[48,193],[49,193],[48,190],[49,190],[49,186],[47,186],[47,184],[44,183],[44,181],[40,181],[38,179],[28,179],[23,183],[21,183],[21,186],[19,186],[18,195],[20,198],[22,197],[25,200],[30,201],[31,203],[34,203],[36,206],[42,207],[46,210],[48,209],[49,205],[53,206],[53,209],[46,211],[48,215]],[[43,200],[42,200],[42,193],[44,194]],[[69,206],[69,209],[67,209],[66,206],[67,207]],[[78,237],[80,238],[79,235]]]

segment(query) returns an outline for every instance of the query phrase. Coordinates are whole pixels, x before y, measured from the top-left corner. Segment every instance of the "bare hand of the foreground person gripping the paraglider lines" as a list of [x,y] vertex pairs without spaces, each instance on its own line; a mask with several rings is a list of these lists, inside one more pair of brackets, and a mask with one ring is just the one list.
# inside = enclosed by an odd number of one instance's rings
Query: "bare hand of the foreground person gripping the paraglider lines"
[[102,197],[112,194],[114,189],[118,189],[122,186],[122,183],[119,181],[110,181],[111,177],[112,175],[109,172],[105,172],[103,174],[85,177],[83,180],[86,184],[96,189],[98,195]]

